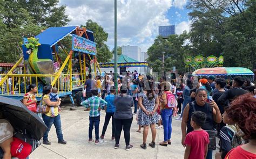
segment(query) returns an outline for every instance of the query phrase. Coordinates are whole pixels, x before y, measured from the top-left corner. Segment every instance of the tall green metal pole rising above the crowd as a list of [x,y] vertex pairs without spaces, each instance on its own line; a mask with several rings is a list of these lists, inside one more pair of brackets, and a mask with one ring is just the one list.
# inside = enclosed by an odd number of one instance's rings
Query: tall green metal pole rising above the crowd
[[117,0],[114,0],[114,85],[117,89]]

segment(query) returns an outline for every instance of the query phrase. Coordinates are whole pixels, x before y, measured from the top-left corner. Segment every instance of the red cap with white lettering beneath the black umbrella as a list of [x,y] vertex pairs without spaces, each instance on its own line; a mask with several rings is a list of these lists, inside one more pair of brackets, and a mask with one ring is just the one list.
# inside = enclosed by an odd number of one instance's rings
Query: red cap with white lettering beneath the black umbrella
[[15,138],[11,142],[11,156],[18,158],[26,158],[31,153],[32,146],[21,139]]

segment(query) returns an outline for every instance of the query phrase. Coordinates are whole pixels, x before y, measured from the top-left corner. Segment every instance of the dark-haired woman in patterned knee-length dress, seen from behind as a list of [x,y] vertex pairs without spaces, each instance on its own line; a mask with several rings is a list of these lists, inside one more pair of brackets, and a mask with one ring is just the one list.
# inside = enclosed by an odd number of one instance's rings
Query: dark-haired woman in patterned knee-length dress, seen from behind
[[139,93],[139,115],[138,115],[138,125],[143,125],[143,144],[140,144],[140,147],[143,149],[147,148],[146,140],[147,140],[147,133],[149,132],[149,125],[151,128],[152,133],[152,142],[149,144],[152,148],[156,147],[156,123],[158,121],[157,117],[157,107],[159,104],[159,99],[154,92],[154,86],[153,83],[150,81],[147,81],[149,85],[144,85],[144,91]]

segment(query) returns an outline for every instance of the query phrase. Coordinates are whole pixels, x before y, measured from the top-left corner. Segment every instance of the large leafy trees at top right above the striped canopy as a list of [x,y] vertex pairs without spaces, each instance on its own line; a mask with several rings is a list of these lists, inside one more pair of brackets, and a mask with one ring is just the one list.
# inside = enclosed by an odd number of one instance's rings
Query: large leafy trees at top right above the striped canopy
[[191,1],[193,52],[224,55],[224,66],[255,66],[255,1]]

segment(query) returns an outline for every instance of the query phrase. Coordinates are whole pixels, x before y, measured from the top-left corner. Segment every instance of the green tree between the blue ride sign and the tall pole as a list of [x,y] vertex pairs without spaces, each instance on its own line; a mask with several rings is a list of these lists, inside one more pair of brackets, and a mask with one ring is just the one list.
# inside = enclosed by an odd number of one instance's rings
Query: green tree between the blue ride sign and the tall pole
[[[83,26],[84,25],[82,25],[81,27]],[[93,22],[91,19],[86,21],[86,25],[84,27],[88,30],[93,31],[96,42],[98,62],[109,62],[113,56],[109,50],[109,47],[105,44],[109,34],[104,31],[104,28],[102,26],[98,25],[96,22]]]

